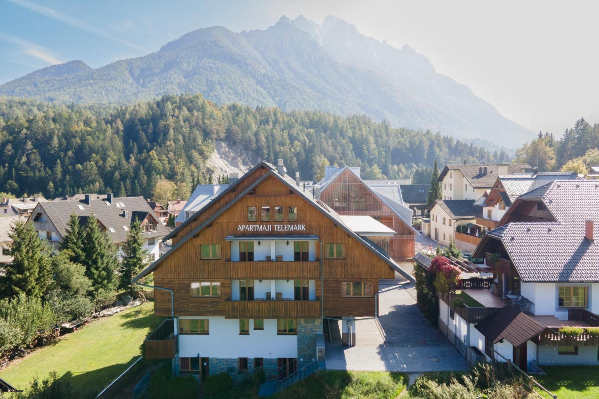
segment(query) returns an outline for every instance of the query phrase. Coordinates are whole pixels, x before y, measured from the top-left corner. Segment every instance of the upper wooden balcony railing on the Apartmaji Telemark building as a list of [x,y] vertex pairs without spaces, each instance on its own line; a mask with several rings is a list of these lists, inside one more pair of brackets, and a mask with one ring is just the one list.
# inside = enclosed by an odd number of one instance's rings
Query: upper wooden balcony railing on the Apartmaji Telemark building
[[225,261],[225,279],[319,279],[320,262]]

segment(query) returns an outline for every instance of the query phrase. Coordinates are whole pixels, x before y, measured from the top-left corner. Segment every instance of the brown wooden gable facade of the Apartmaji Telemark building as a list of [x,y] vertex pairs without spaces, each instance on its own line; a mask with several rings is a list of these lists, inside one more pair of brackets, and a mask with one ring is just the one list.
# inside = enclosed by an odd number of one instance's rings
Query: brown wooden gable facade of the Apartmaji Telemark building
[[[260,173],[258,169],[255,173]],[[261,174],[263,176],[263,174]],[[252,176],[249,176],[250,178]],[[249,179],[255,182],[256,179]],[[241,182],[244,183],[244,182]],[[249,186],[244,185],[243,186]],[[237,195],[241,190],[237,191]],[[228,204],[230,202],[226,201]],[[224,205],[223,202],[222,205]],[[219,205],[219,204],[217,204]],[[288,221],[287,215],[283,222],[248,222],[247,207],[253,205],[258,209],[261,206],[297,206],[297,221]],[[209,207],[210,208],[210,207]],[[214,210],[210,214],[215,214]],[[271,215],[274,217],[274,215]],[[207,220],[204,214],[198,215],[201,223]],[[259,217],[258,217],[259,219]],[[193,224],[190,223],[190,224]],[[240,232],[239,225],[247,224],[276,225],[277,223],[297,223],[305,225],[305,231],[270,232],[252,231]],[[192,226],[184,226],[189,234]],[[289,187],[274,176],[268,176],[253,189],[253,194],[246,194],[239,198],[223,213],[219,214],[193,237],[179,247],[171,250],[168,256],[161,259],[161,263],[154,270],[154,283],[156,286],[174,289],[174,303],[176,316],[226,316],[238,315],[241,305],[229,305],[231,298],[232,279],[312,279],[316,280],[316,298],[320,312],[320,262],[232,262],[231,242],[225,241],[228,235],[318,235],[323,243],[342,243],[346,247],[344,259],[322,259],[324,280],[324,313],[325,316],[373,316],[374,298],[344,298],[341,297],[342,282],[371,281],[374,292],[378,290],[378,279],[392,279],[394,270],[391,266],[372,252],[361,241],[354,238],[334,220],[329,219],[312,202],[301,195],[290,194]],[[184,237],[183,231],[177,232],[180,242]],[[220,259],[201,259],[201,244],[221,244]],[[320,259],[320,245],[316,243],[316,259]],[[190,283],[211,281],[221,283],[221,297],[190,297]],[[311,302],[311,301],[308,301]],[[231,308],[229,309],[228,306]],[[262,305],[249,305],[260,307]],[[267,305],[269,306],[269,305]],[[271,312],[276,312],[277,306],[296,306],[288,304],[274,304]],[[314,304],[305,306],[316,306]],[[228,310],[229,309],[229,310]],[[237,309],[237,310],[235,310]],[[305,311],[305,315],[301,315]],[[170,294],[168,292],[155,292],[156,315],[170,315]],[[229,313],[228,313],[229,312]],[[237,313],[236,313],[237,312]],[[278,313],[277,313],[278,314]],[[302,310],[298,305],[297,317],[314,318],[314,309]],[[290,316],[291,317],[291,316]]]

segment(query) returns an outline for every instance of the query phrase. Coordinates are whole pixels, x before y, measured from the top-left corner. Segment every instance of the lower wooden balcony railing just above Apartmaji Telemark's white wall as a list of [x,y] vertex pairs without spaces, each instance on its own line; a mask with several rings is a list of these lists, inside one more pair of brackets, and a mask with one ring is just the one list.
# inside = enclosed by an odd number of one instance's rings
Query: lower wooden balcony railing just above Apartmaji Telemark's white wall
[[320,300],[316,301],[226,301],[225,318],[316,319],[320,317]]

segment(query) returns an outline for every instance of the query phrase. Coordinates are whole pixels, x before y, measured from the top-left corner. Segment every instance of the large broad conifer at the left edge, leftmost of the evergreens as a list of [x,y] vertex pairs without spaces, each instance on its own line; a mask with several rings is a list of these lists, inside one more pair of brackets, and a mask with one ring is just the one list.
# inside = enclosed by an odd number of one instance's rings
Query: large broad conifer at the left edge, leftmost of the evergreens
[[2,295],[42,297],[52,282],[50,247],[40,240],[33,223],[24,220],[14,222],[8,237],[13,240],[10,244],[13,261],[5,269]]

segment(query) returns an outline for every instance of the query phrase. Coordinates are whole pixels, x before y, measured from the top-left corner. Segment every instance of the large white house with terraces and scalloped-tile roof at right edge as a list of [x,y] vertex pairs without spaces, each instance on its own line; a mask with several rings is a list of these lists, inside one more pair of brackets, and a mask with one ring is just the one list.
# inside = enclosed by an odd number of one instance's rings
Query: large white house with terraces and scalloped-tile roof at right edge
[[484,353],[525,371],[598,365],[599,336],[584,330],[599,327],[598,222],[592,180],[556,180],[516,198],[474,251],[493,277],[462,278],[462,295],[480,306],[439,294],[441,330],[468,359]]

